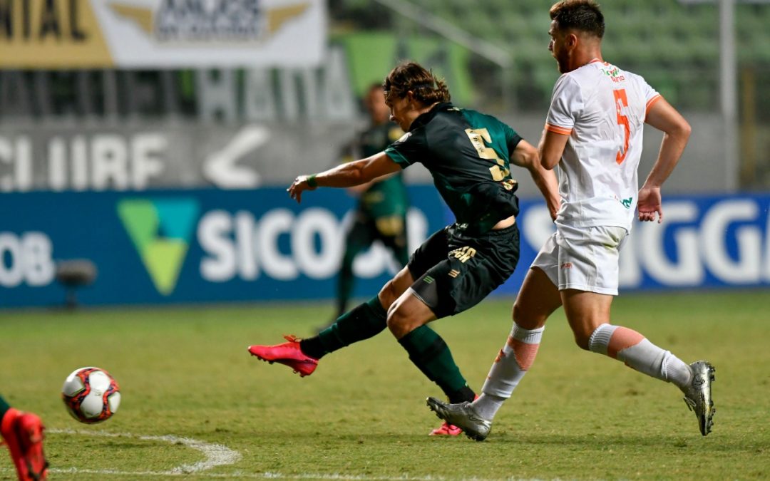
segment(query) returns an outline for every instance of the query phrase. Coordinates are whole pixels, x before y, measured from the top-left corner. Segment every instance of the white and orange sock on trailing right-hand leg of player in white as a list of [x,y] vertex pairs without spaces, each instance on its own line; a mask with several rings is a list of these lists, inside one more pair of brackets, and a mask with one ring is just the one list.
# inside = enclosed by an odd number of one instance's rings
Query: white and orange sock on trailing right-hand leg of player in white
[[602,324],[591,334],[588,349],[623,361],[648,376],[673,382],[680,389],[688,385],[692,376],[684,361],[627,327]]

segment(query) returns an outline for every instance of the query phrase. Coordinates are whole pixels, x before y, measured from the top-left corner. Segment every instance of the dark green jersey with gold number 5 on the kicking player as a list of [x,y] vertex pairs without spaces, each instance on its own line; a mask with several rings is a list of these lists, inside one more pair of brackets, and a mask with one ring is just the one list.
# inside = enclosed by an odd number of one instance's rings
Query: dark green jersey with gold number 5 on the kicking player
[[514,129],[491,115],[440,103],[417,117],[385,153],[403,169],[422,163],[457,228],[480,234],[519,211],[508,161],[519,142]]

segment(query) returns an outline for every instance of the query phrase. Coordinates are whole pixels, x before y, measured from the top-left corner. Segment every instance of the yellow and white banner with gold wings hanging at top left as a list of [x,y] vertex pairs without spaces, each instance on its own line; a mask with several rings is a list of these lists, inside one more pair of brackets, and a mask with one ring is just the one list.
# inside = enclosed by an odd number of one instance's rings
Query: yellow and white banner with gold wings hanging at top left
[[324,0],[47,0],[0,8],[0,68],[316,66]]

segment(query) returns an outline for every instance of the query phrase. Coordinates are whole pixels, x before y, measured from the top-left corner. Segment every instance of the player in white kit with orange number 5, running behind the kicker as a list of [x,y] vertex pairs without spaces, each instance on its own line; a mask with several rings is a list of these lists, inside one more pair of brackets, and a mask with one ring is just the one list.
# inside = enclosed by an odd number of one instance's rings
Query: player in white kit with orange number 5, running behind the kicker
[[[457,404],[428,398],[428,406],[470,438],[485,439],[497,410],[534,361],[546,319],[564,306],[577,346],[678,386],[706,436],[715,413],[714,367],[705,361],[688,365],[639,332],[610,322],[619,252],[634,211],[642,222],[663,220],[661,185],[685,149],[690,125],[644,78],[604,62],[604,17],[593,0],[563,0],[550,13],[548,49],[562,75],[538,151],[546,169],[559,165],[556,232],[527,272],[514,302],[511,335],[481,396]],[[638,189],[644,122],[665,135]]]

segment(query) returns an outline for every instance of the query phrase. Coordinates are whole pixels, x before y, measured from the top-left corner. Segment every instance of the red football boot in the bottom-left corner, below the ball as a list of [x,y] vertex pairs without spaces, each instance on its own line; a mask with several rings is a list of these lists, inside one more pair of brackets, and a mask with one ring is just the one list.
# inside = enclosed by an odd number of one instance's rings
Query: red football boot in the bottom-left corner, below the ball
[[48,462],[43,455],[43,424],[38,416],[8,406],[0,396],[0,435],[11,452],[18,479],[45,479]]

